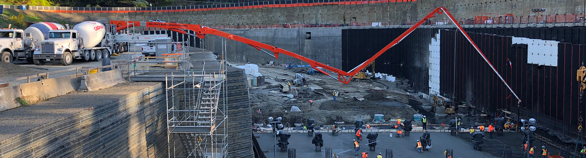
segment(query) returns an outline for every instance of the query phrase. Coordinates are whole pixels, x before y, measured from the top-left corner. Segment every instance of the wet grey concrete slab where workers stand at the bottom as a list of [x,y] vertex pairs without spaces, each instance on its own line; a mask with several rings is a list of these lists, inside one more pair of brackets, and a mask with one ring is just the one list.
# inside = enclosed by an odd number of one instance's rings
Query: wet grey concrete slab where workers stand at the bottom
[[[366,139],[366,133],[364,134],[362,141],[360,143],[368,143],[368,139]],[[394,135],[394,134],[393,134]],[[394,157],[401,157],[401,158],[421,158],[421,157],[444,157],[445,149],[453,149],[454,150],[454,158],[456,157],[485,157],[485,158],[496,158],[488,153],[480,152],[478,150],[472,149],[472,144],[465,142],[460,138],[456,138],[455,136],[449,135],[449,133],[431,133],[431,140],[432,140],[432,148],[428,151],[424,151],[423,153],[417,153],[414,147],[417,145],[417,139],[423,135],[421,132],[413,132],[411,136],[406,136],[405,138],[391,138],[389,137],[389,133],[379,133],[379,138],[377,138],[377,146],[376,151],[371,152],[369,151],[368,145],[360,147],[360,153],[368,152],[369,157],[376,157],[379,153],[384,153],[386,149],[393,150]],[[257,138],[258,143],[260,143],[260,147],[263,150],[269,150],[269,153],[265,153],[265,156],[268,158],[275,157],[274,155],[274,147],[273,142],[275,141],[273,134],[255,134],[255,136],[260,136]],[[277,137],[278,139],[278,137]],[[289,138],[289,146],[288,148],[295,148],[297,157],[324,157],[325,158],[325,150],[326,148],[332,148],[333,153],[340,153],[348,149],[347,152],[341,153],[338,155],[340,158],[346,157],[359,157],[355,156],[355,149],[353,149],[352,140],[355,139],[353,134],[339,134],[338,136],[331,136],[328,134],[323,134],[323,147],[322,152],[315,152],[315,145],[311,144],[311,140],[313,137],[307,136],[307,134],[291,134],[291,138]],[[287,157],[287,152],[280,152],[280,148],[277,148],[277,157],[283,158]]]

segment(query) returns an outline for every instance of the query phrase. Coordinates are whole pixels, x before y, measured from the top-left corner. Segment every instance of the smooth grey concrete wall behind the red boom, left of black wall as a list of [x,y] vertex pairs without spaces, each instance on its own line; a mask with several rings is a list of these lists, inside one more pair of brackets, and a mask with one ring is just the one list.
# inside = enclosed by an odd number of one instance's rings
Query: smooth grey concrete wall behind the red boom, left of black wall
[[[335,68],[342,66],[342,29],[338,27],[222,31],[282,48]],[[306,38],[308,33],[311,34],[311,39]],[[213,52],[222,52],[222,39],[227,40],[227,38],[208,34],[204,39],[203,46]],[[285,54],[280,54],[279,58],[275,59],[248,44],[234,40],[227,41],[227,52],[226,59],[234,62],[275,61],[276,64],[288,62],[307,64]],[[272,52],[270,53],[272,54]]]

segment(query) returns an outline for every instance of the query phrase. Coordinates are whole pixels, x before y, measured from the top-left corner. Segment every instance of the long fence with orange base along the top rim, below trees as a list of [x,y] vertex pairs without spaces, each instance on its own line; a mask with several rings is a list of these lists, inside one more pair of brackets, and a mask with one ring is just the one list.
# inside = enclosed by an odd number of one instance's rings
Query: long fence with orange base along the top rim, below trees
[[[284,0],[284,1],[257,1],[241,3],[222,3],[212,5],[190,6],[163,6],[163,7],[69,7],[69,6],[28,6],[30,10],[43,10],[60,13],[128,13],[128,12],[186,12],[218,9],[248,9],[248,8],[277,8],[292,6],[314,5],[351,5],[363,3],[411,2],[417,0],[374,0],[374,1],[345,1],[345,0]],[[4,5],[4,8],[19,9],[16,5]]]

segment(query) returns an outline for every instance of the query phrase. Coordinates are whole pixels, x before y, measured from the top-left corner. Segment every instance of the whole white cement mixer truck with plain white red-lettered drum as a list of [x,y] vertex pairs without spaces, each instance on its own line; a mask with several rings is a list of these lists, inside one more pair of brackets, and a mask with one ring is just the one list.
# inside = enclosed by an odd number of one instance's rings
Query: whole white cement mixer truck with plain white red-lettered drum
[[40,48],[35,50],[33,62],[35,65],[46,62],[70,65],[73,59],[101,61],[110,58],[118,45],[126,45],[115,42],[115,34],[115,25],[99,22],[81,22],[70,30],[51,30],[49,38],[40,42]]

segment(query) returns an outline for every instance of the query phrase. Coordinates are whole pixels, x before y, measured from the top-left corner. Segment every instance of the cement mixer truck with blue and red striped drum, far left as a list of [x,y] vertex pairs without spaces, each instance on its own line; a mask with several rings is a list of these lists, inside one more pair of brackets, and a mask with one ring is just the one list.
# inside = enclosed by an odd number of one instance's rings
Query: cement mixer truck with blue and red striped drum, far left
[[25,60],[33,62],[33,52],[45,40],[50,30],[65,29],[58,23],[40,22],[25,30],[0,29],[0,61]]

